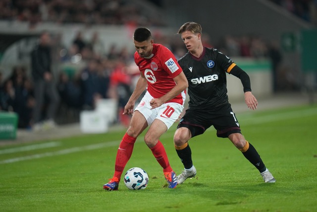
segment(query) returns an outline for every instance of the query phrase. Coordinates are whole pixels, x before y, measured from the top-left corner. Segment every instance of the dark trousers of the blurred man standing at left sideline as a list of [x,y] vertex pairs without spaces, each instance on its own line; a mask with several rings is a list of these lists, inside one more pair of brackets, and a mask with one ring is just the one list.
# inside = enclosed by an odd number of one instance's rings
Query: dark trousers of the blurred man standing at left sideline
[[46,112],[47,120],[54,120],[56,110],[59,104],[59,95],[57,88],[53,81],[46,81],[44,79],[36,80],[34,82],[34,98],[35,107],[33,111],[34,124],[38,123],[42,119],[42,109],[46,100],[49,99],[48,109]]

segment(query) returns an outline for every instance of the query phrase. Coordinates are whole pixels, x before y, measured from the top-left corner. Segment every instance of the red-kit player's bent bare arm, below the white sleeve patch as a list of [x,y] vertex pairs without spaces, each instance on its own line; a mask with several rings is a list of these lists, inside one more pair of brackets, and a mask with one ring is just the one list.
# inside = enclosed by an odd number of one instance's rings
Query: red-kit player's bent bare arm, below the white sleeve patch
[[167,102],[168,100],[171,100],[172,98],[180,94],[182,91],[184,91],[188,87],[188,81],[183,71],[177,76],[175,76],[173,79],[176,83],[175,87],[173,87],[169,92],[167,92],[162,97],[157,99],[152,99],[150,101],[150,105],[152,106],[153,109],[161,106],[163,103]]

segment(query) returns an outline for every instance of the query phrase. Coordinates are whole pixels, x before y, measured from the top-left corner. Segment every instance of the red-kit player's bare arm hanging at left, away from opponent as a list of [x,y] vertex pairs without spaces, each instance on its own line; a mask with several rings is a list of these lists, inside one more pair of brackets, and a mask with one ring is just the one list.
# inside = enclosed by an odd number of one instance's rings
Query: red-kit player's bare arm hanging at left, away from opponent
[[146,89],[148,83],[144,75],[141,73],[137,85],[135,86],[135,89],[133,93],[131,94],[129,101],[124,107],[123,114],[131,115],[134,111],[134,104],[135,101],[139,98],[139,96],[142,94],[142,92]]

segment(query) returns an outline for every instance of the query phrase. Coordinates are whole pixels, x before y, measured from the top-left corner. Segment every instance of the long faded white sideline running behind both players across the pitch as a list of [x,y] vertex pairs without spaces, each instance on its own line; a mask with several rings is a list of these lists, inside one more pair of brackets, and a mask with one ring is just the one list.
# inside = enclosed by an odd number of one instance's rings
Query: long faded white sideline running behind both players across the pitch
[[[247,118],[242,117],[240,120],[242,120],[242,122],[248,122],[248,124],[244,124],[244,126],[246,126],[246,125],[259,124],[259,123],[267,123],[267,122],[271,122],[271,121],[280,121],[280,120],[287,120],[287,119],[291,119],[291,118],[311,116],[311,115],[315,115],[315,114],[317,114],[317,109],[310,108],[307,110],[302,110],[302,111],[297,111],[297,112],[285,112],[285,113],[280,113],[280,114],[276,114],[276,115],[266,115],[263,117],[252,117],[252,116],[249,116]],[[209,130],[214,130],[214,129],[210,128]],[[167,137],[170,138],[170,135],[174,135],[174,131],[166,132],[165,134],[162,135],[162,138],[167,138]],[[143,140],[141,138],[139,138],[137,140],[137,142],[139,142],[139,141],[143,141]],[[106,143],[97,143],[97,144],[91,144],[91,145],[87,145],[87,146],[78,146],[78,147],[73,147],[73,148],[68,148],[68,149],[61,149],[59,151],[54,151],[54,152],[46,152],[46,153],[41,153],[41,154],[28,155],[28,156],[24,156],[24,157],[16,157],[16,158],[11,158],[11,159],[1,160],[0,164],[13,163],[13,162],[30,160],[30,159],[35,159],[35,158],[63,155],[63,154],[69,154],[69,153],[73,153],[73,152],[84,151],[84,150],[93,150],[93,149],[98,149],[98,148],[110,147],[110,146],[118,145],[119,142],[120,141],[109,141]]]

